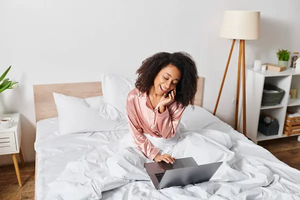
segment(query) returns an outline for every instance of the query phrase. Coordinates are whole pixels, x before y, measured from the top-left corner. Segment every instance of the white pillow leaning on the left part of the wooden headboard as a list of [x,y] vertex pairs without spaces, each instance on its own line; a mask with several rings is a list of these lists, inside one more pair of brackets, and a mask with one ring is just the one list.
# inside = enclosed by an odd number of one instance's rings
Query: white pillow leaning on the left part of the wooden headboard
[[[125,120],[113,120],[105,116],[105,102],[97,105],[100,98],[85,99],[53,92],[58,112],[60,134],[127,129]],[[92,105],[92,106],[91,106]]]

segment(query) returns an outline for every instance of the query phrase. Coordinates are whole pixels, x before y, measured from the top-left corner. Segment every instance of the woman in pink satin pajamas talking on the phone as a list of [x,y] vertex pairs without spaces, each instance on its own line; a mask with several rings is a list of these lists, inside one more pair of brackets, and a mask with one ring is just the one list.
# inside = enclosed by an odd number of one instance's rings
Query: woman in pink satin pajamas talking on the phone
[[159,153],[164,150],[159,146],[165,145],[158,141],[165,144],[178,140],[175,135],[179,135],[176,130],[183,110],[193,105],[197,90],[195,62],[185,52],[159,52],[145,59],[137,74],[126,102],[134,143],[149,159],[173,163],[172,156]]

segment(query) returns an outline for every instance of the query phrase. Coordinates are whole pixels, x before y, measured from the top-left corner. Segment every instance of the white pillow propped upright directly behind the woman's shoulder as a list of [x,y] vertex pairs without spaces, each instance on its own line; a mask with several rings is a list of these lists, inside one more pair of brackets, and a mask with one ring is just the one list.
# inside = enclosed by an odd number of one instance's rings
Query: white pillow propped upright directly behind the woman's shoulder
[[102,76],[102,92],[107,103],[117,109],[122,118],[126,118],[126,99],[134,86],[135,80],[113,74]]

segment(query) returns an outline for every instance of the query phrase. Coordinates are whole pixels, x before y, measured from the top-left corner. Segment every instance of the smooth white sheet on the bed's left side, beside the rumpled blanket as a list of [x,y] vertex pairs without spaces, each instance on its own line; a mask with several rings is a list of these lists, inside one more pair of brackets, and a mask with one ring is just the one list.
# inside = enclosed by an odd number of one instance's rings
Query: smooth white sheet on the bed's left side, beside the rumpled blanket
[[[48,191],[51,189],[48,183],[55,180],[68,162],[84,156],[93,147],[107,145],[109,142],[120,140],[125,133],[127,133],[127,130],[60,135],[58,132],[57,117],[38,121],[36,124],[34,147],[42,146],[42,153],[48,153],[48,157],[39,157],[39,153],[37,153],[38,161],[35,185],[37,199],[46,199]],[[57,148],[57,146],[61,146],[62,144],[64,144],[65,148]],[[109,147],[113,148],[112,145]],[[111,154],[113,150],[115,151],[115,149],[112,149]],[[109,149],[106,150],[108,155],[109,151]],[[55,156],[52,156],[53,154]],[[56,156],[57,154],[60,156]]]

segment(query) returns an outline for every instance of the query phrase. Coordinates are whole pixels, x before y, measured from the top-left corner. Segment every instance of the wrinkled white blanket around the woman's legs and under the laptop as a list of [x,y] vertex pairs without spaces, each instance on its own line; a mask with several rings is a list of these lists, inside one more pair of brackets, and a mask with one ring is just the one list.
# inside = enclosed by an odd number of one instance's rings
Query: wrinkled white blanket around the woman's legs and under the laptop
[[184,130],[178,143],[164,151],[175,158],[192,156],[198,164],[223,161],[211,180],[160,190],[153,187],[143,166],[152,160],[137,149],[129,133],[110,142],[89,140],[90,145],[78,137],[72,151],[65,150],[63,137],[59,141],[35,145],[45,164],[54,158],[57,162],[57,156],[63,162],[68,153],[75,160],[47,181],[50,189],[44,199],[300,199],[300,180],[274,174],[266,160],[244,155],[236,148],[239,141],[233,143],[227,133],[217,130]]

